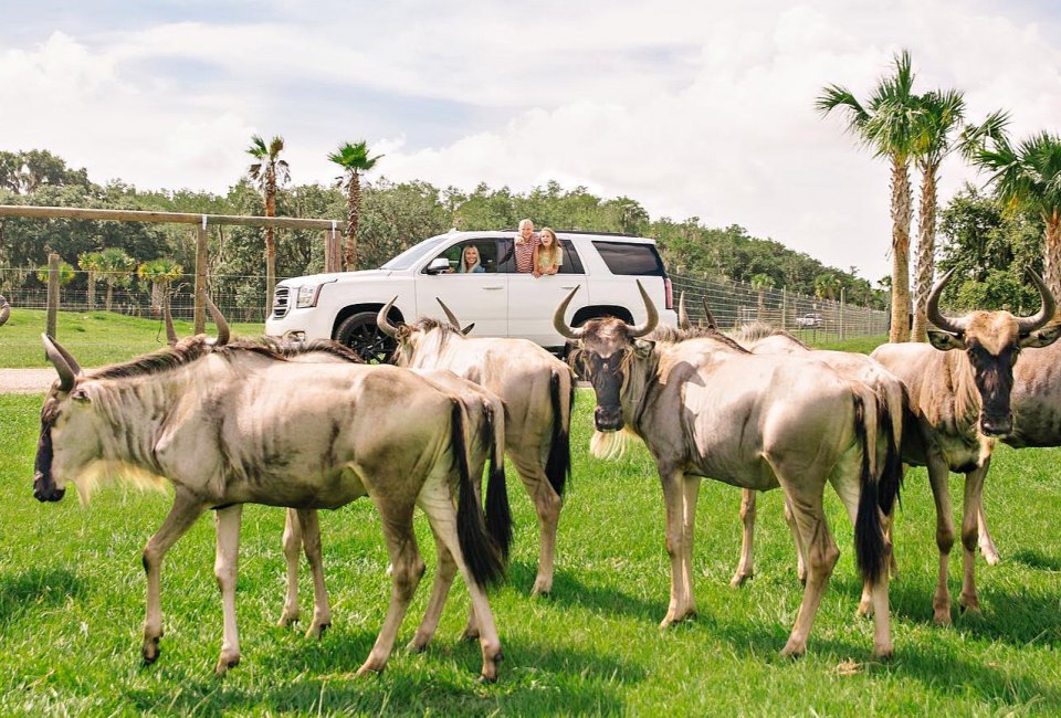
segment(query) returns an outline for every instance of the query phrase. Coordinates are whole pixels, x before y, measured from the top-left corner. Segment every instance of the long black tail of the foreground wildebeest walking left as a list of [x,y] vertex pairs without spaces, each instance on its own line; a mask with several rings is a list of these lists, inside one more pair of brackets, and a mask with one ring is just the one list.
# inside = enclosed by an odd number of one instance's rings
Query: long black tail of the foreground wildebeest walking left
[[480,585],[497,583],[505,576],[505,563],[493,539],[486,532],[483,507],[475,497],[469,471],[468,442],[464,436],[464,404],[452,400],[450,446],[459,478],[456,498],[456,538],[464,566]]

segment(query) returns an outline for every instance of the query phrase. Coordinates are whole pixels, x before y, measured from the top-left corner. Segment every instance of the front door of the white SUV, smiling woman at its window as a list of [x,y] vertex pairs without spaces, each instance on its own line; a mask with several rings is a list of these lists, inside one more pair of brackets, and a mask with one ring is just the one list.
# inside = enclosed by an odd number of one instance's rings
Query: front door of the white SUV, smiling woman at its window
[[[464,247],[475,245],[483,272],[459,272]],[[450,273],[428,274],[432,260],[445,257]],[[434,253],[417,275],[417,313],[424,317],[445,319],[435,297],[445,302],[461,326],[475,323],[473,334],[480,337],[504,337],[508,334],[508,275],[497,271],[498,240],[463,240]]]

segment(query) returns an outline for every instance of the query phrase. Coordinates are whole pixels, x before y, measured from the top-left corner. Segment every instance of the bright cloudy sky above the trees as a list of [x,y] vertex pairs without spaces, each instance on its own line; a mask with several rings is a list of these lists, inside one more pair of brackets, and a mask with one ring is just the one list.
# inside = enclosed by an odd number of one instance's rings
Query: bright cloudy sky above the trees
[[[585,186],[873,282],[889,167],[815,110],[824,86],[864,99],[906,49],[916,92],[964,92],[970,120],[1006,109],[1017,138],[1061,131],[1051,0],[4,8],[0,150],[48,149],[97,182],[224,192],[260,134],[284,137],[293,182],[327,183],[327,154],[366,140],[385,155],[369,181]],[[944,202],[985,181],[956,159],[942,175]]]

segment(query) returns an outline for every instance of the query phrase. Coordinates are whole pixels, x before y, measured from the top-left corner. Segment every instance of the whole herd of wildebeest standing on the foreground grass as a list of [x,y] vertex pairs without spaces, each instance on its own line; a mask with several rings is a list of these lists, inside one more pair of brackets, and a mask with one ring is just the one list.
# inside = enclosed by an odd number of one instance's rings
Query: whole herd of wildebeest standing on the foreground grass
[[701,477],[744,489],[744,545],[734,584],[753,571],[755,492],[780,486],[805,584],[782,653],[802,654],[839,556],[822,508],[831,484],[854,525],[864,581],[859,613],[873,615],[873,653],[886,657],[893,650],[891,518],[904,465],[928,469],[939,549],[933,608],[935,621],[945,624],[955,539],[949,472],[966,475],[959,602],[975,610],[978,543],[989,562],[998,560],[980,499],[995,442],[1061,445],[1061,345],[1048,349],[1061,336],[1054,297],[1032,274],[1041,294],[1034,316],[973,312],[952,318],[938,309],[949,276],[928,298],[929,319],[938,327],[929,332],[931,344],[884,345],[871,356],[811,350],[763,326],[731,336],[714,326],[710,309],[707,321],[693,326],[684,298],[679,327],[658,326],[643,288],[647,318],[637,326],[605,317],[571,327],[565,316],[577,288],[567,296],[554,325],[570,342],[569,365],[522,339],[468,336],[444,305],[444,321],[421,318],[397,326],[388,318],[390,305],[380,310],[379,329],[397,341],[396,366],[365,365],[333,342],[232,340],[209,299],[216,338],[178,339],[170,324],[169,348],[91,371],[44,336],[59,379],[41,411],[33,490],[41,501],[55,501],[67,483],[83,497],[112,477],[172,485],[172,509],[144,549],[141,651],[148,663],[158,658],[162,635],[162,558],[212,509],[224,613],[218,673],[240,659],[235,583],[243,504],[287,507],[281,623],[300,617],[304,551],[314,585],[308,633],[321,635],[332,619],[316,511],[371,498],[392,590],[359,673],[384,668],[424,572],[413,532],[419,506],[435,539],[438,570],[411,647],[422,650],[431,641],[460,573],[471,595],[465,637],[479,638],[482,678],[493,680],[502,646],[486,588],[503,578],[513,537],[505,455],[538,517],[533,592],[548,593],[571,465],[577,374],[596,394],[592,453],[613,457],[635,436],[659,469],[671,563],[662,625],[696,613],[692,553]]

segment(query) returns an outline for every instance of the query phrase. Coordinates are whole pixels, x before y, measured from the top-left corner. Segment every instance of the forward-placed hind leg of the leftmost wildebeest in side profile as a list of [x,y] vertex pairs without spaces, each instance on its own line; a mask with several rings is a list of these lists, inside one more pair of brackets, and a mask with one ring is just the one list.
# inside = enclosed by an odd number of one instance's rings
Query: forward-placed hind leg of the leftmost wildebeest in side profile
[[382,521],[384,539],[387,541],[387,553],[390,556],[390,604],[387,606],[384,626],[376,637],[376,643],[357,671],[359,676],[378,673],[387,665],[401,620],[409,610],[409,602],[424,569],[423,560],[417,550],[417,535],[412,530],[412,504],[377,501],[377,507]]

